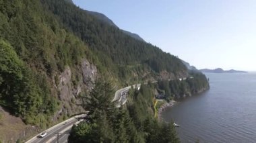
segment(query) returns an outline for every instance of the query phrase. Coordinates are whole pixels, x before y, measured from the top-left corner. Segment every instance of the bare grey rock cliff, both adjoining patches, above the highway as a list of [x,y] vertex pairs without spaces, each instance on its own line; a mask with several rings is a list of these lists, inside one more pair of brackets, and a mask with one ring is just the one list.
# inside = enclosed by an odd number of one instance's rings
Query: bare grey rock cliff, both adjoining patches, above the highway
[[[77,71],[72,73],[74,70]],[[80,79],[74,79],[75,76],[80,77]],[[53,120],[57,120],[61,115],[70,116],[84,111],[81,106],[82,101],[79,98],[79,94],[86,93],[92,89],[92,83],[96,80],[96,76],[96,66],[90,64],[86,59],[82,60],[81,65],[77,66],[75,69],[66,66],[63,73],[57,75],[57,78],[55,78],[55,88],[57,89],[57,95],[62,103],[62,107],[57,111]],[[73,83],[73,81],[75,81],[75,83]]]

